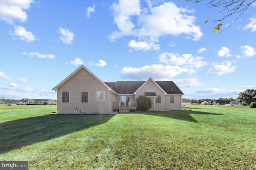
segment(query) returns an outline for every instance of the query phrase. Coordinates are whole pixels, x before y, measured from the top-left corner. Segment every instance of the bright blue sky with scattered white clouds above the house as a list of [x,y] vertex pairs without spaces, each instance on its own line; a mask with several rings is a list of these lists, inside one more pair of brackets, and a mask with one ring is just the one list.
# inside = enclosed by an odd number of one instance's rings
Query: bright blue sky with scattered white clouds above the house
[[186,99],[237,98],[256,88],[247,1],[238,19],[205,24],[223,17],[206,0],[1,0],[0,96],[55,100],[52,88],[83,64],[103,82],[151,77]]

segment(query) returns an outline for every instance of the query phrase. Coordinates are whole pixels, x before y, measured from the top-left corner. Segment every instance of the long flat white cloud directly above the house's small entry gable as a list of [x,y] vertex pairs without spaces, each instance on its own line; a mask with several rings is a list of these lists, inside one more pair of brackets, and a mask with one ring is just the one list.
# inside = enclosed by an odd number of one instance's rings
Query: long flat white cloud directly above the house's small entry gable
[[140,68],[124,67],[120,71],[122,77],[134,80],[147,80],[149,77],[152,77],[154,80],[163,80],[173,78],[182,73],[194,74],[195,71],[179,66],[164,66],[162,64],[147,65]]

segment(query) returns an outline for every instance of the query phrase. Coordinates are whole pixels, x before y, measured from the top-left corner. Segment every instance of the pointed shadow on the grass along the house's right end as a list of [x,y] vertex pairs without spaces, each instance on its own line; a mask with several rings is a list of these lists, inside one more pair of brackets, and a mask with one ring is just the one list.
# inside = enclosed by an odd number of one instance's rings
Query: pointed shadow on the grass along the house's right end
[[190,121],[195,123],[198,123],[198,121],[196,121],[196,119],[194,119],[190,114],[221,115],[217,113],[209,113],[209,112],[203,112],[203,111],[190,111],[190,110],[146,111],[146,112],[140,112],[139,114],[169,117],[172,119]]

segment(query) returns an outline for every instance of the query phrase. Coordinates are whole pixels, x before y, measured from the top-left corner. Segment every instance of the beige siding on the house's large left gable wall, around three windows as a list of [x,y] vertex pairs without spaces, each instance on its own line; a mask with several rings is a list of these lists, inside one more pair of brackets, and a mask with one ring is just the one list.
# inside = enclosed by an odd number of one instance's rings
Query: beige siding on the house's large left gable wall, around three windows
[[[85,74],[85,76],[82,74]],[[69,91],[69,103],[62,103],[62,92],[67,91]],[[81,92],[88,92],[88,103],[81,102]],[[105,92],[104,101],[97,101],[97,92]],[[110,93],[108,89],[85,69],[81,69],[62,84],[57,95],[59,114],[74,114],[74,108],[77,108],[77,113],[85,113],[86,111],[86,113],[104,114],[110,111]]]

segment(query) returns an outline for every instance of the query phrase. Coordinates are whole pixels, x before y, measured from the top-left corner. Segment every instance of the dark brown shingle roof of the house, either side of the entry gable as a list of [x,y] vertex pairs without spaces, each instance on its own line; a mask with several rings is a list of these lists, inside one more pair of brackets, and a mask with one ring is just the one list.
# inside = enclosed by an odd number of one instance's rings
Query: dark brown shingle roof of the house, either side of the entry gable
[[[133,94],[146,81],[117,81],[104,82],[118,94]],[[173,81],[155,81],[167,94],[182,94]]]

